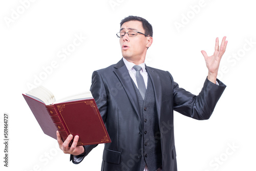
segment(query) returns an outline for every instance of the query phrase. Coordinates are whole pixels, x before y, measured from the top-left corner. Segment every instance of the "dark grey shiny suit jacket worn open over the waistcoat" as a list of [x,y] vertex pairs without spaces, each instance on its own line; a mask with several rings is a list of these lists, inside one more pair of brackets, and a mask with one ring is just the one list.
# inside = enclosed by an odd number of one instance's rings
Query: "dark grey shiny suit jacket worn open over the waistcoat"
[[[179,88],[169,72],[147,66],[146,71],[152,80],[156,99],[162,168],[176,171],[174,110],[194,119],[208,119],[226,86],[219,80],[218,86],[206,79],[202,91],[196,96]],[[105,144],[101,170],[140,170],[141,160],[144,160],[143,120],[133,80],[123,59],[93,73],[91,92],[112,140]],[[78,157],[83,159],[95,146],[84,146],[86,152]]]

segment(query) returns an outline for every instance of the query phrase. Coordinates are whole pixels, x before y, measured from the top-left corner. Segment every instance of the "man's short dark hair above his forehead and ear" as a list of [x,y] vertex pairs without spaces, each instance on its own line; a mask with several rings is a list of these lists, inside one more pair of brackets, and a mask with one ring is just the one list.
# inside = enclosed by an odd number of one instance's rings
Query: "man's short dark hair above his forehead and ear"
[[146,19],[142,18],[142,17],[139,17],[139,16],[127,16],[125,18],[123,18],[121,20],[121,23],[120,23],[120,28],[121,26],[126,23],[126,22],[130,22],[130,21],[139,21],[142,23],[142,27],[143,29],[145,30],[145,35],[149,35],[151,37],[153,37],[153,28],[152,28],[152,25],[150,23],[147,22]]

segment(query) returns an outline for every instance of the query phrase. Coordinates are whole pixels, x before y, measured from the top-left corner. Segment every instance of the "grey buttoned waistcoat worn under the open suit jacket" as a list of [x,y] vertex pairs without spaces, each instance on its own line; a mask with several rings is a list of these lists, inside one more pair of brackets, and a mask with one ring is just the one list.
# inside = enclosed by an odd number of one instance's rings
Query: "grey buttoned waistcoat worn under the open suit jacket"
[[153,85],[150,77],[148,77],[147,90],[144,100],[142,99],[135,84],[134,86],[139,101],[140,115],[143,123],[142,155],[144,156],[144,160],[141,162],[141,170],[143,170],[145,165],[147,165],[150,171],[155,171],[162,165],[162,154]]

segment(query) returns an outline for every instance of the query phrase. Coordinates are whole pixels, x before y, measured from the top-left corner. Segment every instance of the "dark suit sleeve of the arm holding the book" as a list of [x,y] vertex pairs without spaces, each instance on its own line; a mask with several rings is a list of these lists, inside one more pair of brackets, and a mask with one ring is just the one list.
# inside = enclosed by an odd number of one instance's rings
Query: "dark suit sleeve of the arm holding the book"
[[[104,87],[103,79],[97,71],[93,72],[90,91],[93,95],[93,98],[95,99],[102,120],[104,123],[106,123],[106,114],[108,111],[108,95]],[[83,160],[83,158],[86,157],[97,145],[98,144],[84,145],[84,153],[78,156],[70,155],[70,160],[72,160],[74,164],[79,164]]]

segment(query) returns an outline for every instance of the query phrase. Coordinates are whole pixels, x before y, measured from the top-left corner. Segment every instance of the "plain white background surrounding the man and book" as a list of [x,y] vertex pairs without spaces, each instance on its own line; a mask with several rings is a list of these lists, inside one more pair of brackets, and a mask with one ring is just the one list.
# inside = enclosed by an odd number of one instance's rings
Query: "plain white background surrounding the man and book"
[[[8,168],[4,144],[0,145],[1,170],[100,170],[102,144],[82,163],[69,162],[56,140],[42,133],[22,93],[34,81],[56,99],[89,90],[94,70],[121,59],[115,34],[121,19],[129,15],[153,25],[146,65],[169,71],[180,87],[195,94],[207,76],[200,51],[212,55],[216,37],[221,42],[227,36],[218,77],[227,88],[211,118],[198,121],[175,113],[178,170],[256,169],[253,1],[21,0],[1,1],[0,11],[0,137],[3,141],[8,113],[10,139]],[[177,28],[178,23],[182,27]],[[72,48],[76,36],[86,38],[66,58],[60,57],[63,49]],[[49,74],[44,75],[44,68]],[[44,80],[36,80],[39,76]]]

